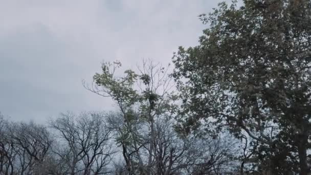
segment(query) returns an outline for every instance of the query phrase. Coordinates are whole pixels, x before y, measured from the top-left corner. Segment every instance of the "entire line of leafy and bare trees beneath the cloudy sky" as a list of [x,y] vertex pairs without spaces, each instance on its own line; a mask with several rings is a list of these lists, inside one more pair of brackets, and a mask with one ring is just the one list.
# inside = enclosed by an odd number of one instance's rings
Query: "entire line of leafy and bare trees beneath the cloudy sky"
[[233,1],[199,19],[172,69],[104,62],[83,82],[115,111],[1,117],[0,172],[310,174],[311,2]]

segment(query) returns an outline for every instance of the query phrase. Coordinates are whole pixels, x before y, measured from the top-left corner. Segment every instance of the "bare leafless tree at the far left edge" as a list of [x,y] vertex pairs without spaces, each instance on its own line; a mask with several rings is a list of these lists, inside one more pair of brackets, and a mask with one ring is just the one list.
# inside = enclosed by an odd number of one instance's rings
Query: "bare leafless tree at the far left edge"
[[0,135],[1,174],[47,172],[43,169],[47,168],[45,162],[53,140],[45,126],[34,122],[9,122],[0,116]]

